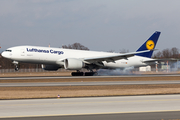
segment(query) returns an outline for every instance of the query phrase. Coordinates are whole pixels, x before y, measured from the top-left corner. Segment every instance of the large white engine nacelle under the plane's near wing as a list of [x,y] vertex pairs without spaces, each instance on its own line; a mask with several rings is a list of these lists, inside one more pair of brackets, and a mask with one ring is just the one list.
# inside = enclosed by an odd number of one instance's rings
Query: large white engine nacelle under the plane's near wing
[[85,66],[85,63],[79,59],[68,58],[64,61],[64,68],[66,70],[80,70]]

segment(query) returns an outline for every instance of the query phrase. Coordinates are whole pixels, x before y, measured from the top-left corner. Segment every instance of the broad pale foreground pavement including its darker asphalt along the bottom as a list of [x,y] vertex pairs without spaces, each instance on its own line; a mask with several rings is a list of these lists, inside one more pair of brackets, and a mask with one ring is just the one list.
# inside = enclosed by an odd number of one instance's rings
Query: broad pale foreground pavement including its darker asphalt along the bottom
[[[124,119],[137,119],[138,116],[155,118],[156,114],[156,118],[158,118],[158,115],[161,115],[161,119],[179,119],[180,117],[177,118],[179,113],[180,95],[0,101],[0,118],[30,119],[32,117],[42,117],[48,119],[79,119],[89,117],[97,119],[104,117],[105,120],[107,120],[107,118],[114,118],[115,116],[118,118],[124,116]],[[133,118],[133,116],[136,116],[137,118]],[[139,120],[142,118],[139,118]]]

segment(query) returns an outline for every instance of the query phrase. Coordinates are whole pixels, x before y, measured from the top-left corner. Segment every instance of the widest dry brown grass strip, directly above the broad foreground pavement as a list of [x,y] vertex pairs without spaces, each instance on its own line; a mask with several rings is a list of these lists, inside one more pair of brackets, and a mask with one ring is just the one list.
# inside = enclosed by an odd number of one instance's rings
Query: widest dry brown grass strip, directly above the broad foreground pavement
[[180,84],[0,87],[0,99],[180,94]]

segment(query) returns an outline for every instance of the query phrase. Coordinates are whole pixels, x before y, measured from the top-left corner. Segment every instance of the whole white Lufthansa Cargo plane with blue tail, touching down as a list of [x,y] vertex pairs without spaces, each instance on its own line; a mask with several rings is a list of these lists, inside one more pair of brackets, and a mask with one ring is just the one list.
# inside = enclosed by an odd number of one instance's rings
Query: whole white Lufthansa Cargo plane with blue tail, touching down
[[[94,69],[123,69],[155,64],[151,59],[160,32],[156,31],[136,52],[109,53],[38,46],[16,46],[5,50],[2,56],[10,59],[18,70],[19,62],[42,64],[44,70],[76,70],[72,76],[93,75]],[[90,72],[80,72],[82,68]]]

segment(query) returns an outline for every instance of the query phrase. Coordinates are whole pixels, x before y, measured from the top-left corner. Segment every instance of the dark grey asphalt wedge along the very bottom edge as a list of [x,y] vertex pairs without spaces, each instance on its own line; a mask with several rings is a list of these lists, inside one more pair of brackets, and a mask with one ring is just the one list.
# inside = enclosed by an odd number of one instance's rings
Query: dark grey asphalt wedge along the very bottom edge
[[179,120],[180,112],[120,113],[52,117],[6,118],[5,120]]

